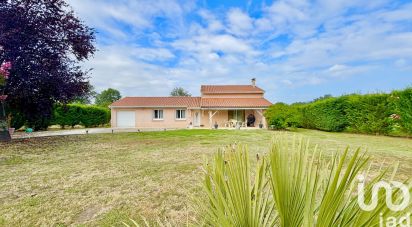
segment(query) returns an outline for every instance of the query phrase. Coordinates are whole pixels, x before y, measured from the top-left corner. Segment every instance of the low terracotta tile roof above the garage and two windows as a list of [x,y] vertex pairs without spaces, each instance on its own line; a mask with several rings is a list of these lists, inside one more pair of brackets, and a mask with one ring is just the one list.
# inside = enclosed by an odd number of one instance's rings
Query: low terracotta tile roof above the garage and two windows
[[199,107],[200,97],[125,97],[111,107]]

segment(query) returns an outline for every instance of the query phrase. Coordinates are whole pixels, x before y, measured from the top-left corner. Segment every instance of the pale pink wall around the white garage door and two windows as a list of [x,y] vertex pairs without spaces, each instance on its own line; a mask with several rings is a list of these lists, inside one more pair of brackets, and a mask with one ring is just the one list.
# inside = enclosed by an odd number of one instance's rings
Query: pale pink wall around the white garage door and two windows
[[[153,110],[163,110],[163,120],[153,119]],[[186,110],[186,120],[177,120],[176,110]],[[192,121],[191,111],[185,108],[114,108],[111,110],[111,126],[116,128],[117,111],[135,111],[136,128],[187,128]]]

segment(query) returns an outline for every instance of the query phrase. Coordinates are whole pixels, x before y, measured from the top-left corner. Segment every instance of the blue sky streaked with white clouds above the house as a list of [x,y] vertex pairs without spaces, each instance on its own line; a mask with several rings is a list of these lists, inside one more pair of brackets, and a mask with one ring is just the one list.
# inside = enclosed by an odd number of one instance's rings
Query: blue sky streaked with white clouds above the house
[[97,32],[97,91],[200,95],[250,84],[272,102],[412,86],[412,1],[68,0]]

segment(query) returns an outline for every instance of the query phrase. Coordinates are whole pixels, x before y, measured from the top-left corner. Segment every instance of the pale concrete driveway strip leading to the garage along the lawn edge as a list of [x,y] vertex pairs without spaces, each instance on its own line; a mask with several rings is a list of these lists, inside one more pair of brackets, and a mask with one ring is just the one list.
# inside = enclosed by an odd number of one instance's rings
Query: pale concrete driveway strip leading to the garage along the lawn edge
[[100,133],[119,133],[119,132],[150,132],[150,131],[166,131],[176,129],[163,128],[88,128],[88,129],[67,129],[55,131],[39,131],[33,133],[16,132],[13,134],[13,139],[31,138],[31,137],[46,137],[46,136],[67,136],[67,135],[85,135],[85,134],[100,134]]

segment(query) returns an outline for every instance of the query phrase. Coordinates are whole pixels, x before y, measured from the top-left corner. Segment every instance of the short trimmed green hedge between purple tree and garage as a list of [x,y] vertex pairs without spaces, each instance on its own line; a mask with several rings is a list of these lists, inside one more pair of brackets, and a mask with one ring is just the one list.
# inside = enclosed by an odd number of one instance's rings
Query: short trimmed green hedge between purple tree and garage
[[53,125],[97,127],[110,122],[110,110],[98,106],[68,104],[53,108]]

